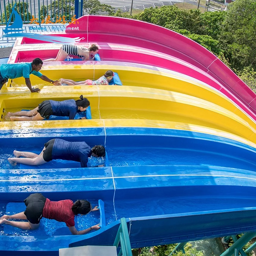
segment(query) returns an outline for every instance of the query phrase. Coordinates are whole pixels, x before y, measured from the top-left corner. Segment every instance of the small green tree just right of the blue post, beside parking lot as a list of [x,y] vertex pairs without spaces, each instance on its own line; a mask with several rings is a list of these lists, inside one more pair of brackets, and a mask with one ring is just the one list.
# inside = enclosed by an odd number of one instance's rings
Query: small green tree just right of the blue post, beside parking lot
[[99,14],[106,12],[108,15],[114,15],[114,7],[101,4],[98,0],[83,0],[83,14]]

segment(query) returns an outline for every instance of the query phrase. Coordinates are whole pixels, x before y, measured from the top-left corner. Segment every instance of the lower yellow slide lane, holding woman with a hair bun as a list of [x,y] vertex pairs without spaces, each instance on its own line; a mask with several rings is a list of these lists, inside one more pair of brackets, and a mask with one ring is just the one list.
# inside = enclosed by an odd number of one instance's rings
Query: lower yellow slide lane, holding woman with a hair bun
[[[222,130],[256,143],[254,127],[232,111],[201,98],[160,89],[134,86],[45,86],[40,93],[3,94],[0,111],[2,113],[3,108],[5,111],[17,111],[36,107],[46,99],[78,99],[80,94],[91,102],[93,119],[179,122]],[[11,123],[12,129],[21,126],[21,122],[1,122],[0,129],[5,129],[7,123],[8,126]],[[44,121],[43,126],[55,128],[54,124],[48,120]]]

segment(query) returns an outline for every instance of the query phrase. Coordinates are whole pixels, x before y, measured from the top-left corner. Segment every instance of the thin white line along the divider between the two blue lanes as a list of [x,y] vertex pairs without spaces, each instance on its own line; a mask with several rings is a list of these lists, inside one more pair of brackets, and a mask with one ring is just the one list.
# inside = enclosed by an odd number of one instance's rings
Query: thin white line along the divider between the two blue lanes
[[[111,172],[113,175],[112,167]],[[71,180],[101,180],[101,179],[121,179],[121,178],[141,178],[141,177],[175,177],[175,176],[195,176],[195,177],[225,177],[225,178],[240,178],[246,180],[256,180],[256,178],[231,176],[231,175],[210,175],[210,174],[159,174],[159,175],[138,175],[138,176],[117,176],[117,177],[97,177],[97,178],[75,178],[75,179],[57,179],[57,180],[0,180],[0,182],[39,182],[39,181],[71,181]],[[256,173],[255,173],[256,176]],[[115,189],[115,185],[114,185]]]

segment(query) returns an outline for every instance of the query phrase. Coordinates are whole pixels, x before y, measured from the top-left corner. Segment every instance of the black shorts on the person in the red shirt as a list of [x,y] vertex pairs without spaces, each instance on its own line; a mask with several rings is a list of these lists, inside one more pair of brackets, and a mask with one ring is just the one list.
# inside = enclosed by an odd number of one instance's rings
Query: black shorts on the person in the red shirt
[[24,200],[24,203],[27,206],[24,214],[30,223],[38,224],[40,222],[43,217],[45,201],[46,198],[39,193],[31,194]]

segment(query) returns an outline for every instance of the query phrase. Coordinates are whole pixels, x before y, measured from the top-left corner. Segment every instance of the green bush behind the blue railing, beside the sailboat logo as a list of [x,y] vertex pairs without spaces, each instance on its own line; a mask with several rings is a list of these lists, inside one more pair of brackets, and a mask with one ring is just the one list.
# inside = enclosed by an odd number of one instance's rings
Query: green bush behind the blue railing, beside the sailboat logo
[[[30,22],[30,19],[32,18],[30,12],[28,11],[28,7],[29,7],[29,4],[27,4],[26,2],[24,2],[24,3],[23,2],[18,2],[16,4],[16,7],[15,7],[15,10],[17,11],[18,14],[20,14],[20,17],[24,22]],[[6,5],[7,21],[10,18],[12,8],[13,8],[13,6],[11,4]],[[4,12],[2,13],[2,18],[3,18],[3,22],[6,22]],[[14,21],[14,15],[12,15],[12,17],[11,17],[11,22],[13,22],[13,21]]]

